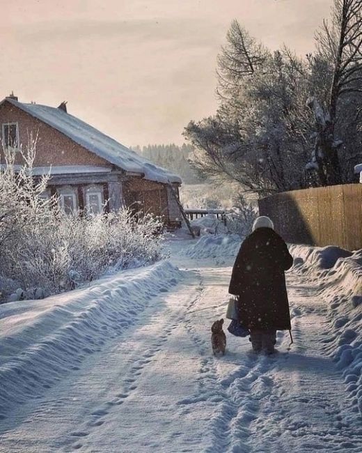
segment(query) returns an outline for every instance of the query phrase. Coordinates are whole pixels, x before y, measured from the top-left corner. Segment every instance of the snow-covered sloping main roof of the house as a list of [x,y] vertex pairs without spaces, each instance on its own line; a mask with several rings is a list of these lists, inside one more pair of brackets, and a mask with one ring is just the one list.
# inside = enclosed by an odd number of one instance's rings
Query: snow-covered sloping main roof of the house
[[34,118],[38,118],[43,123],[62,132],[88,151],[125,171],[144,174],[145,179],[159,183],[167,183],[168,181],[171,183],[182,182],[179,176],[172,174],[166,169],[157,167],[150,160],[141,157],[131,149],[118,143],[118,141],[103,134],[100,130],[64,112],[62,109],[40,104],[26,104],[12,98],[6,98],[6,100]]

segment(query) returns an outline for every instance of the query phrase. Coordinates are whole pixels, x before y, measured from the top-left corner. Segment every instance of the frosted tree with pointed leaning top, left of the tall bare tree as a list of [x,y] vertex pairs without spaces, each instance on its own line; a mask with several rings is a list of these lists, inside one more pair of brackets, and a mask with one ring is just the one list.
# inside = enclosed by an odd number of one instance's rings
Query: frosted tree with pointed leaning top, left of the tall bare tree
[[237,21],[226,38],[218,59],[217,114],[185,128],[198,150],[194,164],[259,194],[304,187],[312,132],[308,65],[287,48],[270,52]]

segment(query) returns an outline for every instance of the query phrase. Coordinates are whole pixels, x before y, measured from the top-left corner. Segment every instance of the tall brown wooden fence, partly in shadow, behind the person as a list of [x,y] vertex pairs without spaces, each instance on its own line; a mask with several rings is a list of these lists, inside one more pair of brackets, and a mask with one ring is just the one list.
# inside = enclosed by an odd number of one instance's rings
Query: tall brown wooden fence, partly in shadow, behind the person
[[287,242],[362,249],[362,184],[283,192],[258,203]]

